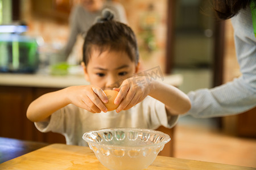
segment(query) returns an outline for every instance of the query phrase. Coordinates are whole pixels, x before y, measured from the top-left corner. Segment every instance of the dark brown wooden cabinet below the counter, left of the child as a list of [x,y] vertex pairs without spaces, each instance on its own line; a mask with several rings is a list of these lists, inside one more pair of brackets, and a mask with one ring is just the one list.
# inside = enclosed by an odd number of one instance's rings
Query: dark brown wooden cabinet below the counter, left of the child
[[0,86],[0,136],[28,141],[65,143],[63,135],[41,133],[35,128],[34,122],[26,117],[28,105],[33,100],[46,92],[56,90],[56,88]]

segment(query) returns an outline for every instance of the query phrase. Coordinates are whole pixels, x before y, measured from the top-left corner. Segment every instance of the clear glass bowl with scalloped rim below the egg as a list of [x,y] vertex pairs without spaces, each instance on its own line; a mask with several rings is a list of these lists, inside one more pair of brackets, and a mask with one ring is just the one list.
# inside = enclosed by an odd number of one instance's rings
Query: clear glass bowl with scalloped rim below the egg
[[89,131],[82,139],[88,142],[101,164],[112,170],[147,168],[171,140],[160,131],[138,128]]

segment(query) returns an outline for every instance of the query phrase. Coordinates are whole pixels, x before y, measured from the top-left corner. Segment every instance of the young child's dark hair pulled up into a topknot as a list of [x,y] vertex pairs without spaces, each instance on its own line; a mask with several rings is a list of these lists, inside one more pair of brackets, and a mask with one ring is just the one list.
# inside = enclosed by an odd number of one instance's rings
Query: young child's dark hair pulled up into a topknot
[[127,53],[131,61],[134,61],[136,64],[138,63],[139,52],[133,30],[126,24],[116,22],[112,19],[98,19],[97,23],[90,27],[87,32],[82,48],[82,59],[85,66],[88,65],[92,49],[97,49],[100,53],[105,50],[123,51]]

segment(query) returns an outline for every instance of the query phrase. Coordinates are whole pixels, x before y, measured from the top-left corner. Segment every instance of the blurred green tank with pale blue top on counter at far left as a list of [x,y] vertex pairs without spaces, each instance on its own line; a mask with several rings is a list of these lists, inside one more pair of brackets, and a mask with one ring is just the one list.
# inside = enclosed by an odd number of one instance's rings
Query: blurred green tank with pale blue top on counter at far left
[[0,72],[34,73],[39,66],[38,42],[25,25],[0,25]]

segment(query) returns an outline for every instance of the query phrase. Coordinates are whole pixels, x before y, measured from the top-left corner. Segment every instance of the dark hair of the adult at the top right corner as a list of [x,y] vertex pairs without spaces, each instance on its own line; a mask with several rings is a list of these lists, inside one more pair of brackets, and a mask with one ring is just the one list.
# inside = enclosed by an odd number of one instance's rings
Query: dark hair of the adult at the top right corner
[[255,0],[214,0],[214,10],[218,18],[229,19],[238,14],[241,9],[245,9]]

